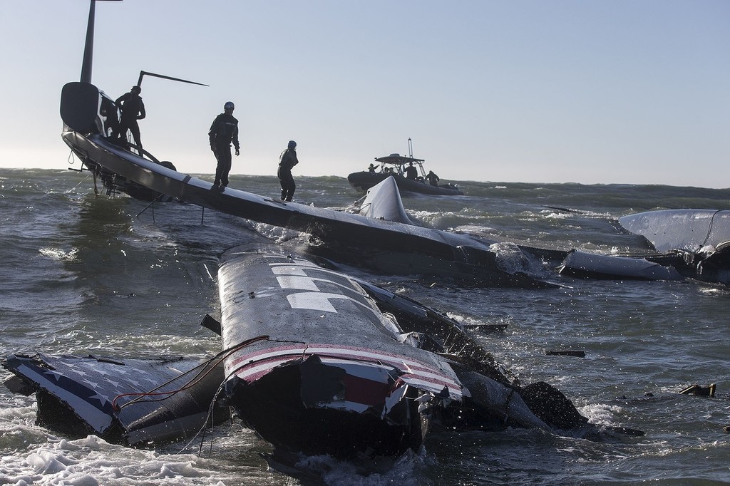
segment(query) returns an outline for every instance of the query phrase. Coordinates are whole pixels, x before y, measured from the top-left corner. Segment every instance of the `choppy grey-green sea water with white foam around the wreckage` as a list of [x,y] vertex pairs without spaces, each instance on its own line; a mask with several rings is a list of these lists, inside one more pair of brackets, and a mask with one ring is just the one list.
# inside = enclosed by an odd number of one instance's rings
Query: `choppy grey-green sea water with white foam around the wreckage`
[[[361,194],[344,177],[297,177],[296,201],[344,208]],[[466,196],[404,196],[420,224],[561,250],[636,252],[642,239],[616,220],[649,209],[730,209],[730,190],[662,185],[459,182]],[[275,177],[231,186],[278,196]],[[87,173],[0,169],[2,355],[96,353],[121,357],[220,350],[199,323],[218,316],[218,258],[260,238],[304,241],[281,228],[177,202],[147,207],[95,196]],[[509,250],[509,245],[505,245]],[[417,298],[465,324],[523,384],[558,387],[600,427],[644,436],[559,436],[544,431],[434,433],[418,455],[364,476],[311,458],[330,485],[730,484],[730,288],[685,280],[555,277],[561,288],[473,288],[343,269]],[[584,350],[585,358],[546,355]],[[715,398],[678,392],[715,383]],[[35,423],[34,397],[0,389],[0,484],[296,485],[269,470],[270,452],[233,422],[204,440],[134,450],[95,436],[62,436]]]

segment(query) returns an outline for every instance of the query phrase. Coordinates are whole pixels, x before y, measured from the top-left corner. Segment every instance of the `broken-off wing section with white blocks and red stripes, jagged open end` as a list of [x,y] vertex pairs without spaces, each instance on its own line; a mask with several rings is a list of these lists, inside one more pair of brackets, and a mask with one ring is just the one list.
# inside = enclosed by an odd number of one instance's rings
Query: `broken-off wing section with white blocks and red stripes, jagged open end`
[[418,450],[463,390],[446,360],[406,344],[350,277],[291,255],[229,250],[218,274],[228,403],[277,448],[353,458]]

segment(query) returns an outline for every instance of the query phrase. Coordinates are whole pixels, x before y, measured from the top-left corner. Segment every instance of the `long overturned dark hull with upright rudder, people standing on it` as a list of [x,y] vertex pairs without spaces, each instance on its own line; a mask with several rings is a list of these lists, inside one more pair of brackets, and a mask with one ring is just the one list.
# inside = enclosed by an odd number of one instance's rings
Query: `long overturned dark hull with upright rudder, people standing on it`
[[[545,288],[550,284],[520,267],[500,261],[492,245],[498,242],[467,234],[423,228],[404,220],[388,220],[383,213],[369,216],[282,203],[243,190],[210,190],[210,182],[182,174],[167,161],[158,161],[146,151],[134,153],[112,138],[119,114],[114,101],[91,84],[93,5],[88,28],[82,78],[69,82],[61,93],[62,138],[83,166],[91,171],[107,192],[123,191],[145,200],[161,195],[204,208],[277,225],[315,236],[323,245],[358,254],[357,263],[393,274],[439,274],[475,279],[485,285]],[[391,183],[390,178],[385,184]],[[377,191],[376,191],[377,192]],[[402,207],[398,191],[388,193],[378,207]],[[382,192],[377,192],[382,194]],[[370,198],[366,205],[372,205]],[[386,211],[387,212],[387,211]],[[526,251],[541,251],[526,249]],[[518,252],[521,250],[518,250]],[[509,258],[513,258],[510,253]]]

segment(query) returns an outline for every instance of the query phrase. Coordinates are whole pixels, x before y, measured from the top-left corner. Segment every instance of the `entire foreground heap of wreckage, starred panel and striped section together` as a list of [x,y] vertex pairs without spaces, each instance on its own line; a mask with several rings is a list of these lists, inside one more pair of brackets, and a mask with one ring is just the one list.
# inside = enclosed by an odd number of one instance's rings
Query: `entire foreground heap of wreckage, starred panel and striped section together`
[[590,427],[445,315],[301,255],[237,247],[218,280],[214,358],[17,353],[7,387],[35,393],[48,428],[137,447],[189,439],[229,409],[277,450],[344,459],[419,450],[432,427]]

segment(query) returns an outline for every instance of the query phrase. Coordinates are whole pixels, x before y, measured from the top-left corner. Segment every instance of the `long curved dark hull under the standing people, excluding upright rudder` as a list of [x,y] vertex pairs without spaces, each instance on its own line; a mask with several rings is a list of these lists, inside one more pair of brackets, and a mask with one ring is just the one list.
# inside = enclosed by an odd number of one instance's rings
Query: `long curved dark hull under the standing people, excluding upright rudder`
[[[526,274],[507,273],[496,265],[496,255],[490,245],[496,243],[466,234],[453,234],[416,225],[396,223],[372,217],[311,207],[226,188],[211,190],[210,182],[169,169],[128,150],[123,150],[105,136],[82,134],[67,130],[64,142],[72,148],[86,166],[113,174],[114,180],[126,181],[147,188],[150,194],[164,194],[201,207],[229,215],[244,217],[258,223],[312,234],[321,241],[365,255],[359,264],[388,272],[383,267],[399,261],[397,255],[414,255],[418,261],[405,266],[393,266],[396,274],[454,275],[473,279],[485,285],[507,285],[542,288]],[[366,248],[364,248],[366,242]],[[354,251],[353,251],[354,250]],[[366,250],[366,251],[365,251]],[[393,253],[393,258],[388,256]]]

